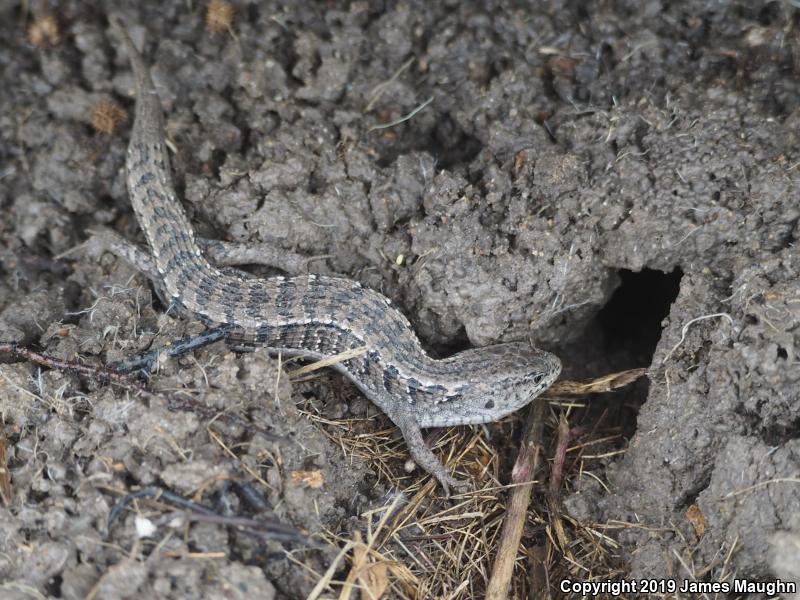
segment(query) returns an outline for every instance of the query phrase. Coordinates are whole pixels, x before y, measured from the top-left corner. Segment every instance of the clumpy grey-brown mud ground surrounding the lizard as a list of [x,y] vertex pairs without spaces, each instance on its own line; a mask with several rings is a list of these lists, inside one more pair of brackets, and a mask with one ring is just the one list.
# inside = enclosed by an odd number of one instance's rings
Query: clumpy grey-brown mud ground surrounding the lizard
[[[59,2],[58,43],[36,47],[30,4],[0,7],[0,339],[99,365],[201,331],[82,245],[103,229],[142,241],[124,182],[130,118],[111,134],[90,124],[100,102],[133,107],[116,9]],[[571,450],[561,492],[565,518],[606,536],[592,576],[798,580],[800,9],[235,7],[216,35],[196,4],[121,13],[153,65],[199,234],[269,243],[380,290],[437,354],[530,339],[569,378],[648,367],[647,385],[552,408],[577,445],[606,440]],[[339,548],[380,519],[370,511],[397,497],[393,482],[420,479],[391,434],[379,462],[337,442],[388,430],[354,388],[330,373],[290,381],[296,365],[263,351],[218,343],[149,384],[258,430],[3,360],[3,598],[305,597],[331,564],[346,577]],[[517,420],[489,427],[503,432],[486,442],[502,483]],[[139,539],[137,514],[175,510],[145,502],[109,527],[119,498],[148,486],[279,519],[319,547],[180,520]],[[543,536],[532,519],[523,544]],[[435,565],[395,558],[420,581]],[[490,559],[455,597],[480,596]],[[583,580],[581,561],[556,552],[548,567]],[[531,593],[519,564],[514,590]],[[454,591],[426,585],[419,597]]]

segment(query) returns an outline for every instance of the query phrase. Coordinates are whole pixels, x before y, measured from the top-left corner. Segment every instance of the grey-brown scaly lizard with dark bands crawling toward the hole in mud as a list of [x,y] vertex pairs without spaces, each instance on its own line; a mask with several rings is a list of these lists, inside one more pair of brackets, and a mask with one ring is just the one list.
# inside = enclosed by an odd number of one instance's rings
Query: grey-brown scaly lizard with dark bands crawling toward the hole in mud
[[408,320],[383,295],[319,275],[259,279],[221,271],[201,252],[175,194],[163,115],[150,72],[124,27],[112,20],[136,80],[136,118],[127,152],[133,210],[150,250],[143,269],[179,310],[229,327],[236,348],[266,347],[317,360],[364,347],[333,365],[400,428],[416,463],[461,488],[426,446],[420,428],[495,421],[525,406],[558,377],[554,355],[526,342],[431,358]]

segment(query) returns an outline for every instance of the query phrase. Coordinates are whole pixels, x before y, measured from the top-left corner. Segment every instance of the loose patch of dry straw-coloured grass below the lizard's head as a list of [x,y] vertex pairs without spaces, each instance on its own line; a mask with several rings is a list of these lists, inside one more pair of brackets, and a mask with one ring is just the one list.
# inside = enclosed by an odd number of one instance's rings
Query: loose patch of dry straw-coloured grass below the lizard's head
[[[588,384],[562,384],[560,392],[574,396],[580,395],[581,389],[584,393],[598,387],[613,389],[641,374],[612,376],[611,383],[602,378]],[[618,579],[626,572],[614,538],[633,525],[581,523],[561,507],[562,493],[576,478],[600,479],[602,459],[623,452],[623,442],[613,431],[611,435],[608,430],[583,433],[570,427],[569,419],[579,415],[576,405],[574,400],[550,400],[540,411],[544,437],[549,440],[543,447],[544,468],[538,471],[533,501],[523,513],[522,539],[511,548],[510,587],[507,595],[500,597],[560,597],[558,583],[562,579]],[[328,541],[341,548],[340,561],[320,579],[317,596],[312,596],[484,597],[501,545],[503,523],[510,518],[511,486],[504,486],[499,477],[508,471],[507,458],[516,450],[503,446],[502,439],[488,441],[481,428],[446,430],[435,443],[438,455],[449,468],[458,465],[457,475],[468,475],[476,482],[474,492],[447,500],[440,497],[441,490],[430,476],[418,470],[409,474],[400,467],[407,452],[384,417],[376,416],[373,420],[377,423],[368,424],[364,419],[325,419],[311,409],[305,414],[346,454],[368,461],[390,489],[402,490],[383,508],[361,515],[365,540],[358,533],[348,539],[328,533]],[[578,437],[579,443],[573,443]],[[349,567],[342,571],[345,558]],[[340,577],[342,572],[347,575],[336,579],[337,569]]]

